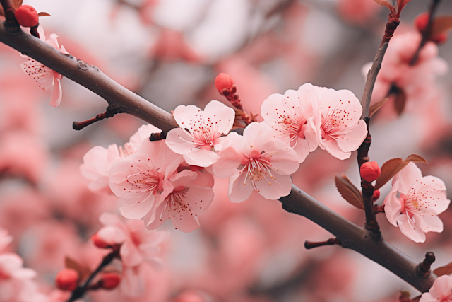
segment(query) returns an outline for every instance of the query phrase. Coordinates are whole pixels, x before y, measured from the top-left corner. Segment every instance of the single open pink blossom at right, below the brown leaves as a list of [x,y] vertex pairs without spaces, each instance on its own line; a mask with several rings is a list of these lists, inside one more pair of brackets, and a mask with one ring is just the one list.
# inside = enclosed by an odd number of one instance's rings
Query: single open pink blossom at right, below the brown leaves
[[384,210],[388,221],[398,226],[403,235],[415,242],[424,242],[425,233],[443,231],[443,222],[437,215],[445,211],[451,201],[446,197],[442,180],[434,176],[423,178],[415,163],[409,163],[394,176],[392,185],[384,199]]

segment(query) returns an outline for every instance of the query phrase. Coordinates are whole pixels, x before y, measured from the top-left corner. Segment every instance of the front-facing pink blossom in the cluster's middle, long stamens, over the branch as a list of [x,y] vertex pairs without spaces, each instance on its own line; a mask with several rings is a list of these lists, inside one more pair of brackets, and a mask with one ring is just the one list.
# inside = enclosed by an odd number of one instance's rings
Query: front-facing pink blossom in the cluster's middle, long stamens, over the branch
[[232,202],[243,202],[253,190],[266,199],[287,196],[292,188],[289,175],[299,167],[297,153],[274,139],[268,124],[258,122],[249,124],[243,137],[221,151],[219,157],[213,173],[218,178],[230,178]]

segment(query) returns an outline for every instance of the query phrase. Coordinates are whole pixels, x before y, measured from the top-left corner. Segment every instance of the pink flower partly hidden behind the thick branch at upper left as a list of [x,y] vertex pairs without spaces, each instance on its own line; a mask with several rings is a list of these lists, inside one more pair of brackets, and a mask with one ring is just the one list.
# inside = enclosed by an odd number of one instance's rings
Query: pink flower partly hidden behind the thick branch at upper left
[[[69,54],[64,46],[61,46],[61,48],[59,47],[57,35],[52,33],[49,40],[45,40],[44,29],[42,28],[42,26],[38,27],[37,30],[42,41],[46,42],[49,45],[52,45],[62,54]],[[27,62],[20,64],[20,67],[22,67],[23,71],[25,71],[26,74],[33,76],[33,79],[35,79],[35,81],[39,84],[40,88],[46,91],[49,89],[52,91],[49,105],[57,107],[59,103],[61,103],[61,97],[63,96],[60,83],[61,79],[63,78],[61,74],[57,73],[57,71],[49,69],[49,67],[44,66],[44,64],[35,61],[35,59],[28,59]]]

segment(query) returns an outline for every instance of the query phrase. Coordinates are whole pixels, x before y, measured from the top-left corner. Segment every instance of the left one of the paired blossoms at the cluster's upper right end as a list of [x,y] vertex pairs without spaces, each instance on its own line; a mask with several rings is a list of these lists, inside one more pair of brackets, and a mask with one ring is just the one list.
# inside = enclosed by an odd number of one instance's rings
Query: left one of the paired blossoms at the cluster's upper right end
[[263,101],[261,115],[276,134],[275,138],[290,141],[300,163],[317,146],[314,117],[317,117],[316,92],[319,87],[307,83],[298,91],[288,90],[284,95],[275,93]]

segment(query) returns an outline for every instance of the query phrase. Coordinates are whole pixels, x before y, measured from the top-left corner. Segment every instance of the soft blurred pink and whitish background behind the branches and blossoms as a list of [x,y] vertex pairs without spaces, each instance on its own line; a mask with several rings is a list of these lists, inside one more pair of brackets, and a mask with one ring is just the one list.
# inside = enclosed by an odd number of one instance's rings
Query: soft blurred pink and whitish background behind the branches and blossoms
[[[413,20],[430,1],[405,7],[396,37],[416,32]],[[98,66],[121,85],[165,110],[177,105],[203,108],[225,101],[214,80],[233,77],[244,108],[254,114],[272,93],[297,90],[303,83],[349,89],[361,98],[362,66],[374,59],[388,10],[373,0],[24,0],[51,16],[40,18],[46,35],[56,33],[74,57]],[[442,1],[439,15],[452,15]],[[391,46],[390,46],[391,47]],[[439,46],[452,62],[452,42]],[[88,190],[79,171],[93,146],[123,145],[143,124],[116,115],[81,131],[73,121],[104,112],[105,100],[63,79],[58,108],[21,69],[25,59],[0,45],[0,226],[14,241],[25,266],[35,269],[42,289],[70,256],[94,268],[102,253],[89,238],[100,228],[99,215],[118,212],[119,199]],[[383,64],[384,68],[384,64]],[[433,83],[433,82],[432,82]],[[371,123],[371,161],[417,153],[419,165],[452,190],[452,76],[428,87],[429,97],[408,95],[398,114],[390,99]],[[427,89],[427,88],[426,88]],[[385,91],[376,92],[385,95]],[[384,97],[384,96],[383,96]],[[259,121],[261,119],[258,118]],[[317,149],[293,175],[295,185],[358,225],[364,213],[335,190],[333,175],[345,173],[359,185],[356,154],[346,161]],[[387,184],[376,202],[391,190]],[[258,194],[242,204],[227,198],[227,181],[215,179],[215,199],[192,233],[174,231],[162,250],[165,269],[147,272],[143,297],[112,292],[85,301],[397,301],[398,291],[419,293],[396,275],[352,250],[338,246],[305,250],[305,240],[331,234],[278,201]],[[450,198],[450,195],[449,195]],[[443,233],[413,243],[378,215],[383,236],[422,261],[433,251],[433,267],[452,261],[452,209],[440,218]],[[188,294],[187,294],[188,293]],[[182,295],[182,298],[181,298]],[[190,300],[191,301],[191,300]]]

